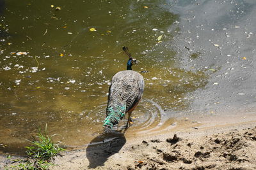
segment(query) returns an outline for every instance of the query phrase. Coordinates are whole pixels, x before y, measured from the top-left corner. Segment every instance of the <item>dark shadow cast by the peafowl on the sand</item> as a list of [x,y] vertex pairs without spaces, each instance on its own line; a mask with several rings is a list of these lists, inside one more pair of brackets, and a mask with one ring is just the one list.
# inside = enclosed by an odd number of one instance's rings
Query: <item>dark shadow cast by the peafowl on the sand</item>
[[103,166],[111,155],[118,153],[125,145],[124,132],[109,131],[92,139],[86,148],[86,157],[89,160],[88,168]]

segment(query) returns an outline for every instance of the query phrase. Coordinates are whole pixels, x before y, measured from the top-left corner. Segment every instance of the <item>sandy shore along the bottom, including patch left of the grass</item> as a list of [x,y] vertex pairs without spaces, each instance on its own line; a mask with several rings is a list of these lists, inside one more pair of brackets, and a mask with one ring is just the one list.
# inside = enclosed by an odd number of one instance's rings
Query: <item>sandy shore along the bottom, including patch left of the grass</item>
[[[197,127],[155,136],[125,139],[119,134],[94,141],[63,152],[52,169],[256,169],[255,116],[210,119],[218,124],[204,124],[205,119]],[[0,167],[12,165],[4,155],[0,159]]]

